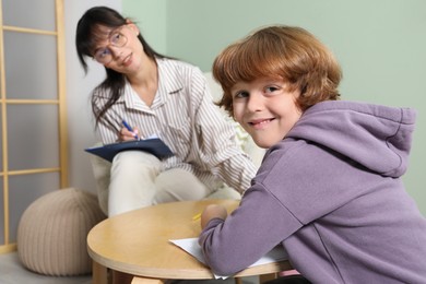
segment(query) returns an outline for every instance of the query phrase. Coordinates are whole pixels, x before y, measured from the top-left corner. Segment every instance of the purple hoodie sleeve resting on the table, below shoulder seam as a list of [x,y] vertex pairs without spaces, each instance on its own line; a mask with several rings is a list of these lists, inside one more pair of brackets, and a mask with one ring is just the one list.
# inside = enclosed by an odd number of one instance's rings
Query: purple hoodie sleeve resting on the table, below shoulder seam
[[199,244],[215,274],[233,275],[255,263],[300,226],[281,202],[261,185],[255,185],[225,222],[215,218],[208,224]]

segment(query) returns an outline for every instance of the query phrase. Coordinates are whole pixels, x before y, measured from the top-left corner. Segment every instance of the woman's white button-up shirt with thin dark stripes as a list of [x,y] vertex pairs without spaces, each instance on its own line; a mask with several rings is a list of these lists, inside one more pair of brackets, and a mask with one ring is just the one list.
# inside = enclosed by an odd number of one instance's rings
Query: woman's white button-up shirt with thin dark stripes
[[[244,192],[256,175],[250,157],[235,141],[235,129],[217,106],[199,68],[171,59],[157,59],[158,88],[147,106],[126,83],[123,95],[98,125],[104,144],[116,142],[127,120],[142,138],[157,135],[175,153],[162,161],[163,170],[182,168],[214,190],[223,182]],[[100,108],[108,93],[95,91]],[[114,127],[105,120],[113,122]]]

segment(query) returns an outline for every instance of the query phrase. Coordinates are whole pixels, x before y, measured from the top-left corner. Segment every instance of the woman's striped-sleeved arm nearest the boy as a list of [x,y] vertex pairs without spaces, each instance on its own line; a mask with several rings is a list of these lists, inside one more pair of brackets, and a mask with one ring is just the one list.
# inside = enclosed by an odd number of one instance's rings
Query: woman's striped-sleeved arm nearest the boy
[[[204,168],[213,169],[229,187],[242,193],[250,187],[257,168],[251,158],[241,150],[235,139],[235,129],[225,114],[214,105],[203,74],[192,75],[191,95],[198,97],[192,107],[199,145],[199,157]],[[200,87],[202,86],[202,87]]]

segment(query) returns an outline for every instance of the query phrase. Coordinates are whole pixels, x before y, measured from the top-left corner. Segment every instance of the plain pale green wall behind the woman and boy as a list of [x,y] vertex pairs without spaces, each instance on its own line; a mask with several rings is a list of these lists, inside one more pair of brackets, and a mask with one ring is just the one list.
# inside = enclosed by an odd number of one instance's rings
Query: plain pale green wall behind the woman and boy
[[426,1],[122,0],[152,46],[210,71],[215,56],[255,28],[298,25],[342,64],[343,99],[414,107],[417,128],[404,177],[426,215]]

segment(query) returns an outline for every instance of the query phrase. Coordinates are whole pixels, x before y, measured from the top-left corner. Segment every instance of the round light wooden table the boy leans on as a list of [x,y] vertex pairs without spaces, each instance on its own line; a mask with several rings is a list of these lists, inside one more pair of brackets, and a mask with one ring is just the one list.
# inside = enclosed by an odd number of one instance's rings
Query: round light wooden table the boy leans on
[[[94,261],[93,283],[107,283],[106,268],[135,275],[132,283],[154,280],[214,279],[196,258],[169,239],[198,237],[200,220],[193,216],[211,203],[232,212],[237,200],[163,203],[107,218],[91,229],[88,255]],[[287,261],[248,268],[235,277],[276,273],[291,269]]]

